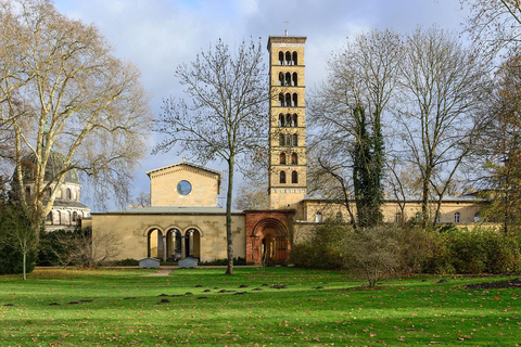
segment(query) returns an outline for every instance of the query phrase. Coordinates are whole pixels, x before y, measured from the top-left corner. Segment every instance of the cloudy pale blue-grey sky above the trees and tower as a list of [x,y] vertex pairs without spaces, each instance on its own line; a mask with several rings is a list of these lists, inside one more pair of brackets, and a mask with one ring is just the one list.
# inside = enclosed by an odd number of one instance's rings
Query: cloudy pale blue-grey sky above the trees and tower
[[[176,67],[219,38],[233,47],[250,38],[266,44],[269,35],[283,35],[285,28],[307,36],[306,86],[312,87],[326,76],[328,56],[347,37],[372,28],[407,34],[433,24],[460,31],[467,15],[458,0],[55,0],[55,5],[93,23],[116,55],[139,67],[155,114],[163,99],[182,97]],[[176,153],[148,155],[135,195],[149,191],[145,170],[179,160]],[[219,163],[208,166],[223,169]]]

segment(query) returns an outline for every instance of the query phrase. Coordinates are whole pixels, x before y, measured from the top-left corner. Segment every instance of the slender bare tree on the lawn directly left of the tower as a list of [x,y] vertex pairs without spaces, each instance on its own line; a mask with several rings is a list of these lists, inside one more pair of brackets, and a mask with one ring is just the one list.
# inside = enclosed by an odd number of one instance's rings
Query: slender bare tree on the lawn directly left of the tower
[[176,75],[188,99],[165,100],[155,127],[166,139],[154,152],[168,152],[180,144],[179,152],[190,153],[200,163],[220,159],[228,165],[228,274],[233,273],[231,204],[236,163],[251,159],[267,142],[269,95],[262,57],[260,42],[243,42],[232,52],[219,40],[189,65],[180,65]]

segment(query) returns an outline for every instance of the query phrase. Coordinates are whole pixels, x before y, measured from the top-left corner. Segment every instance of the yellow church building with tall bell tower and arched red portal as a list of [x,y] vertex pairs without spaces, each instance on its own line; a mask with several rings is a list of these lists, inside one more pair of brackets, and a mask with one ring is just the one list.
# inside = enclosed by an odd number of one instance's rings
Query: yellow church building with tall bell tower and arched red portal
[[[327,218],[347,216],[342,204],[307,195],[305,43],[302,36],[268,39],[269,92],[274,95],[269,107],[269,207],[232,211],[233,256],[247,264],[265,259],[285,265],[292,244]],[[217,203],[220,172],[182,160],[147,175],[151,206],[93,213],[94,240],[107,233],[116,235],[122,243],[118,259],[225,259],[226,210]],[[440,222],[473,223],[482,204],[469,196],[446,198]],[[408,202],[405,213],[414,217],[419,210],[421,202],[417,200]],[[397,202],[385,202],[385,222],[394,222],[402,213]]]

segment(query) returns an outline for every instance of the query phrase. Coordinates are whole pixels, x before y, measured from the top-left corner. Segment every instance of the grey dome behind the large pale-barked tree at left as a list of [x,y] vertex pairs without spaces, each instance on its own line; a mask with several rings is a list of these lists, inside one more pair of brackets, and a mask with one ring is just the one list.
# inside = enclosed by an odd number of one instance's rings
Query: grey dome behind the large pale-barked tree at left
[[[47,160],[46,166],[46,176],[45,181],[52,180],[58,174],[60,174],[64,168],[65,158],[62,154],[55,151],[51,151],[49,154],[49,159]],[[36,175],[36,165],[38,160],[34,153],[30,153],[22,158],[22,171],[24,175],[24,180],[34,181]],[[79,184],[78,172],[75,169],[71,169],[65,172],[63,178],[63,183],[75,183]]]

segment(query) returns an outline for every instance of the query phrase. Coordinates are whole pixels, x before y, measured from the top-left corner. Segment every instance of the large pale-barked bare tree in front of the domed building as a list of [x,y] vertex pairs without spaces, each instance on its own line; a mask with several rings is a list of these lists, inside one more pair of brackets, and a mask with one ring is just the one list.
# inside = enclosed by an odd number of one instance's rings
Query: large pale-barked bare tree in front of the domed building
[[[35,230],[73,169],[91,180],[99,202],[125,201],[151,119],[138,69],[116,59],[94,26],[65,17],[49,0],[1,1],[0,22],[0,123],[14,141],[16,191],[28,179],[24,156],[35,162],[34,190],[17,196],[34,211]],[[46,177],[53,151],[63,165]]]

